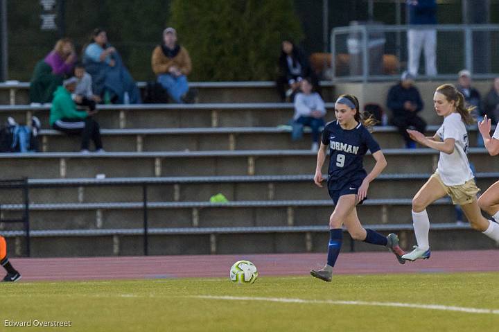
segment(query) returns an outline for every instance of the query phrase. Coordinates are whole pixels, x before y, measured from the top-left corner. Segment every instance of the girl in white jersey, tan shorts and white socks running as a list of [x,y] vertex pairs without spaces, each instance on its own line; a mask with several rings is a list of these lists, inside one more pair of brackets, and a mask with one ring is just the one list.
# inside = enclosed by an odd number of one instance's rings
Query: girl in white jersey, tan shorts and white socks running
[[473,123],[473,108],[466,107],[464,96],[454,85],[444,84],[437,87],[433,105],[444,123],[433,137],[425,137],[421,132],[408,130],[410,137],[423,146],[440,151],[437,171],[424,184],[412,199],[412,220],[417,245],[412,252],[402,256],[408,261],[430,258],[428,233],[430,220],[426,207],[449,195],[453,204],[459,205],[471,227],[499,241],[499,225],[482,216],[476,194],[480,189],[475,184],[469,166],[468,133],[465,124]]

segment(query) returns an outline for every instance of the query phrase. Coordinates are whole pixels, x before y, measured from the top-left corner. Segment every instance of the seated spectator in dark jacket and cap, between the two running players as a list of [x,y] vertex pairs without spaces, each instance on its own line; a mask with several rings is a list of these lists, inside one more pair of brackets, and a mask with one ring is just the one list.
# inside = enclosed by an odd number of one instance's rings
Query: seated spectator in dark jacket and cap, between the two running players
[[423,101],[416,87],[413,85],[414,77],[404,71],[401,82],[389,89],[387,107],[392,110],[392,123],[399,128],[399,132],[405,140],[406,148],[416,148],[416,143],[410,139],[408,128],[424,132],[426,121],[421,119],[417,113],[423,110]]

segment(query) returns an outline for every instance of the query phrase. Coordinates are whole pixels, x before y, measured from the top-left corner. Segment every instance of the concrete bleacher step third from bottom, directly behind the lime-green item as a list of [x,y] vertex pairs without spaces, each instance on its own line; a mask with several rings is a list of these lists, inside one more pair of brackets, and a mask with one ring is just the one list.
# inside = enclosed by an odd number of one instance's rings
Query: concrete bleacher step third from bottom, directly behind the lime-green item
[[[403,176],[403,175],[402,175]],[[412,198],[426,182],[430,174],[380,175],[369,186],[370,199]],[[255,176],[257,177],[257,176]],[[498,180],[499,174],[478,174],[477,185],[485,191]],[[329,195],[326,189],[320,189],[313,184],[312,175],[290,176],[289,180],[280,180],[279,177],[269,177],[268,180],[252,180],[252,177],[242,177],[233,181],[225,181],[225,177],[213,177],[211,182],[204,181],[204,177],[191,177],[192,181],[182,182],[182,178],[175,182],[174,178],[165,182],[148,184],[148,201],[150,202],[207,202],[212,195],[222,193],[227,200],[327,200]],[[196,182],[198,179],[198,182]],[[217,180],[220,179],[220,180]],[[43,181],[43,180],[42,180]],[[61,184],[56,186],[46,180],[46,184],[38,182],[30,189],[30,202],[46,203],[99,203],[99,202],[142,202],[143,187],[136,184]],[[324,182],[325,185],[325,182]],[[21,196],[12,198],[8,191],[0,190],[0,204],[15,204],[21,202]]]

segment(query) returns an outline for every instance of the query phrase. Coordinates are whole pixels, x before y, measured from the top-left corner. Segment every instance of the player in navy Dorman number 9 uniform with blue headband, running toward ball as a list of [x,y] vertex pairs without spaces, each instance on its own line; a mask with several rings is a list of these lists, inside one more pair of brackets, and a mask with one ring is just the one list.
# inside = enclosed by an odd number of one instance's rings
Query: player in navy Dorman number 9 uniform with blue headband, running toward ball
[[[373,229],[365,229],[357,216],[356,205],[367,198],[369,183],[373,181],[387,162],[380,146],[365,126],[374,125],[372,118],[364,119],[359,111],[356,96],[344,94],[335,103],[336,121],[330,122],[322,132],[322,142],[317,152],[317,166],[314,182],[322,187],[322,166],[329,148],[329,172],[327,187],[333,199],[335,209],[329,218],[329,246],[327,263],[321,270],[311,270],[313,277],[331,281],[342,245],[342,225],[347,227],[351,238],[374,245],[383,245],[391,250],[403,264],[401,258],[405,252],[399,247],[399,238],[395,234],[383,236]],[[362,161],[370,150],[376,164],[369,174]]]

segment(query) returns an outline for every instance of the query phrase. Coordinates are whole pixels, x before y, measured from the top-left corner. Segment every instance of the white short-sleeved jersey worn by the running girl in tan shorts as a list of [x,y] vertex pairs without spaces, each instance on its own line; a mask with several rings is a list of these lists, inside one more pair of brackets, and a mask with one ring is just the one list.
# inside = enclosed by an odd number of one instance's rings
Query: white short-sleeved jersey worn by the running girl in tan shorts
[[461,114],[453,113],[444,119],[437,135],[441,141],[455,139],[454,151],[448,155],[440,152],[437,173],[446,186],[458,186],[473,179],[466,152],[468,150],[468,132],[461,119]]

